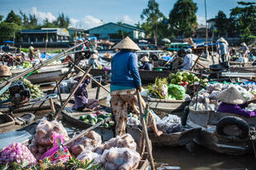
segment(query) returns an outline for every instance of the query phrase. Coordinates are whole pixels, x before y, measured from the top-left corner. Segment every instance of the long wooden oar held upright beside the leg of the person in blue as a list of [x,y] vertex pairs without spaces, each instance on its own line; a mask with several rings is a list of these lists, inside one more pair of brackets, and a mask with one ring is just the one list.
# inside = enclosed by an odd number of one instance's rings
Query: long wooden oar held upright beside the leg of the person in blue
[[140,122],[142,124],[143,133],[144,133],[144,136],[145,136],[145,143],[146,143],[146,147],[147,147],[147,150],[148,150],[148,153],[149,153],[149,163],[150,163],[151,169],[155,170],[155,168],[154,168],[154,159],[153,159],[153,155],[152,155],[152,149],[151,149],[151,145],[150,145],[150,142],[149,142],[148,129],[146,127],[146,123],[145,123],[145,119],[144,119],[144,112],[143,112],[141,101],[140,101],[140,92],[139,92],[138,89],[136,90],[136,93],[137,93],[139,108],[140,108]]

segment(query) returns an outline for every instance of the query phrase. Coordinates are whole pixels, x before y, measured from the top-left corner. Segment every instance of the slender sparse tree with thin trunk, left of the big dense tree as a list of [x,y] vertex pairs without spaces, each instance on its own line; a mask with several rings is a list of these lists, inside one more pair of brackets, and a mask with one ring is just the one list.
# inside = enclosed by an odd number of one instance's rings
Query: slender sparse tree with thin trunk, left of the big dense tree
[[164,15],[160,12],[159,3],[155,0],[149,0],[148,7],[145,8],[140,15],[140,18],[145,20],[142,27],[148,35],[153,35],[155,46],[157,46],[158,43],[159,20],[162,17],[164,17]]

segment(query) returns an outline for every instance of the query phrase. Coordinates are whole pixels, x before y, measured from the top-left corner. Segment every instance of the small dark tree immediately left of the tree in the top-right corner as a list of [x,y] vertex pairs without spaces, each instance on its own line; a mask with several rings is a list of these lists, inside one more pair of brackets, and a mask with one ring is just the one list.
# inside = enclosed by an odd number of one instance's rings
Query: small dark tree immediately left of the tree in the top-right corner
[[218,15],[215,17],[217,33],[219,36],[223,36],[229,29],[230,20],[226,17],[225,13],[222,11],[218,12]]

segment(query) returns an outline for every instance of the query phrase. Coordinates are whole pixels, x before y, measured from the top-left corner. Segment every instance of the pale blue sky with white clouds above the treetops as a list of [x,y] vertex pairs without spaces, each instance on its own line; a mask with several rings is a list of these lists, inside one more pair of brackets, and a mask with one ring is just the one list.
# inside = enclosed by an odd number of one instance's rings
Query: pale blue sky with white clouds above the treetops
[[[215,17],[219,10],[230,16],[230,9],[237,7],[239,0],[206,0],[207,19]],[[253,2],[247,0],[246,2]],[[168,17],[176,0],[156,0],[160,12]],[[197,22],[205,23],[204,0],[197,3]],[[254,1],[255,2],[255,1]],[[0,0],[0,15],[7,17],[13,10],[26,14],[35,14],[40,22],[48,18],[55,20],[64,12],[70,19],[71,26],[89,29],[107,22],[122,21],[131,25],[141,22],[140,14],[147,7],[148,0]]]

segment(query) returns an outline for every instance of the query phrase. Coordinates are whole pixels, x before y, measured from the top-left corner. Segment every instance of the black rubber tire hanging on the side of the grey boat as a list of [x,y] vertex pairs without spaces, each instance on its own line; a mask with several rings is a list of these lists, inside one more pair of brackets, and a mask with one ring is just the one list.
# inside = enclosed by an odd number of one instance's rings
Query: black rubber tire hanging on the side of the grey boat
[[243,133],[239,136],[237,136],[239,139],[246,139],[249,136],[249,125],[248,123],[237,117],[237,116],[225,116],[223,118],[221,118],[218,122],[218,124],[216,125],[216,132],[218,135],[225,135],[225,133],[223,132],[223,129],[225,128],[225,126],[227,125],[236,125],[239,127],[240,130],[243,131]]

